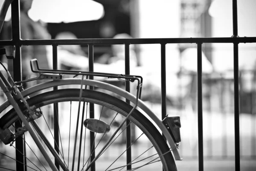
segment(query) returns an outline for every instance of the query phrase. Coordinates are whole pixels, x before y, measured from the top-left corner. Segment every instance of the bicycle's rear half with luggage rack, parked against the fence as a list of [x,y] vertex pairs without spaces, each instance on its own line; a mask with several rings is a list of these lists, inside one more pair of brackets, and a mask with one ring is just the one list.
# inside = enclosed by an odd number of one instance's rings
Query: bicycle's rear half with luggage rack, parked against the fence
[[[0,12],[0,18],[5,17],[6,11],[12,1],[5,1]],[[2,25],[3,23],[1,23],[1,28]],[[15,82],[2,62],[0,64],[8,75],[8,78],[6,78],[0,72],[0,87],[8,99],[0,106],[0,113],[4,113],[0,118],[0,139],[5,145],[12,147],[14,147],[13,143],[15,139],[24,139],[24,142],[32,151],[32,154],[30,154],[32,158],[29,159],[25,155],[26,162],[29,161],[32,163],[30,166],[26,165],[30,170],[47,170],[49,167],[53,171],[57,171],[60,168],[64,171],[73,171],[74,169],[87,171],[91,168],[95,170],[96,164],[99,164],[97,165],[99,170],[103,170],[103,168],[99,167],[105,166],[106,158],[104,154],[108,153],[111,153],[112,156],[119,153],[112,159],[113,162],[111,161],[104,168],[104,170],[108,171],[124,169],[145,170],[153,167],[152,165],[157,165],[165,171],[177,170],[174,157],[176,160],[181,159],[178,151],[178,142],[180,142],[179,117],[166,117],[161,121],[140,100],[142,77],[99,72],[42,70],[39,67],[38,61],[34,59],[30,61],[31,70],[32,72],[38,73],[39,76]],[[63,75],[75,76],[74,78],[62,78]],[[75,78],[77,76],[81,76],[81,78]],[[86,76],[86,79],[84,79],[84,76]],[[88,76],[115,78],[129,82],[137,81],[136,96],[103,81],[87,79]],[[44,79],[50,79],[52,81],[37,84],[23,90],[23,83]],[[79,86],[79,88],[66,88],[67,85],[75,85],[76,87]],[[49,90],[49,88],[52,89],[53,87],[62,88]],[[115,93],[130,101],[133,105],[115,96],[102,93],[98,91],[99,89]],[[47,92],[42,93],[40,92],[41,90],[47,90]],[[38,93],[38,95],[30,97],[35,93]],[[52,107],[52,104],[55,105]],[[73,112],[73,105],[77,107],[75,112]],[[8,109],[9,106],[12,106],[12,109]],[[60,144],[56,142],[57,140],[53,136],[52,124],[49,123],[51,119],[46,118],[47,116],[51,116],[52,113],[58,113],[59,108],[62,109],[62,114],[65,113],[67,115],[66,117],[58,116],[58,128],[57,130],[53,130],[55,131],[54,134],[57,134],[57,139],[60,139]],[[92,112],[97,113],[97,110],[99,118],[88,116],[88,111],[90,115]],[[110,110],[112,111],[110,112]],[[76,118],[73,116],[76,116]],[[69,119],[69,122],[65,119]],[[75,123],[72,125],[71,122],[73,121]],[[23,126],[15,128],[15,122],[20,122]],[[45,123],[38,124],[38,122]],[[59,124],[61,122],[67,122],[67,127]],[[125,133],[125,128],[131,124],[136,125],[135,129],[140,134],[137,138],[133,139],[133,142],[125,146],[122,143],[123,139],[120,135]],[[48,128],[48,130],[43,130],[44,127]],[[76,127],[76,129],[73,130],[73,127]],[[86,140],[88,138],[86,130],[90,130],[90,139],[93,139],[90,141],[91,148],[88,148],[88,150],[86,150]],[[31,138],[27,138],[29,136],[27,133],[30,134]],[[43,156],[41,161],[32,150],[32,145],[29,145],[29,142],[25,141],[24,134],[26,134],[26,139],[31,139],[39,148]],[[65,139],[68,139],[68,142],[64,141]],[[151,143],[149,147],[145,147],[145,139],[147,139],[147,143]],[[78,141],[79,145],[77,145]],[[142,142],[144,144],[140,146]],[[73,143],[72,146],[70,145],[71,143]],[[82,145],[84,146],[82,147]],[[113,146],[112,149],[110,149],[111,145]],[[132,160],[131,158],[122,159],[123,154],[132,145],[140,146],[140,148],[137,148],[138,156],[132,156]],[[68,148],[68,151],[65,151],[66,148]],[[120,150],[121,148],[124,148],[124,150]],[[17,149],[15,150],[17,151]],[[71,154],[70,150],[73,151],[73,154]],[[5,155],[3,153],[0,154]],[[73,157],[70,157],[71,155]],[[33,159],[35,157],[36,159]],[[72,158],[72,161],[70,158]],[[33,162],[38,162],[39,164],[36,165]],[[44,166],[45,162],[49,166]],[[161,163],[160,166],[159,163]],[[0,168],[4,169],[1,166]]]

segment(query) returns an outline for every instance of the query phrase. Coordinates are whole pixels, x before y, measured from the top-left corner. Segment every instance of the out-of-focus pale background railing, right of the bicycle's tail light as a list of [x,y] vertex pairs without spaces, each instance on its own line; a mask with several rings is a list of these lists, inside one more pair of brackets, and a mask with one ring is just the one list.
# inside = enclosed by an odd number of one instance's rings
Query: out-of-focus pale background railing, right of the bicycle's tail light
[[[204,157],[207,159],[233,159],[235,157],[234,151],[232,151],[234,144],[230,143],[234,138],[233,113],[235,111],[234,78],[230,73],[233,74],[233,72],[214,72],[202,75]],[[186,73],[185,75],[196,78],[195,73]],[[242,159],[256,158],[255,75],[255,70],[239,70],[240,157]],[[192,84],[195,84],[195,81]],[[196,123],[193,121],[197,119],[197,85],[191,85],[190,91],[189,96],[181,99],[180,103],[175,106],[178,109],[175,113],[181,114],[181,119],[185,120],[183,122],[185,128],[181,130],[183,134],[195,127]],[[186,105],[190,105],[191,110],[186,110]],[[168,113],[173,113],[173,110]],[[188,116],[190,116],[190,120],[186,122],[184,117]],[[188,122],[191,122],[191,125],[186,126]],[[197,159],[197,140],[187,136],[182,135],[182,140],[190,147],[183,144],[180,147],[181,154],[184,159]],[[191,145],[191,143],[194,144]]]

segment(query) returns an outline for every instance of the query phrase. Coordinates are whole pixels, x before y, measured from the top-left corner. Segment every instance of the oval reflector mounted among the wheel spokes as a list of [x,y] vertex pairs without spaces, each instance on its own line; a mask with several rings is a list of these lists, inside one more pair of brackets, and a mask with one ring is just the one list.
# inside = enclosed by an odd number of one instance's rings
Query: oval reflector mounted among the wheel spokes
[[98,119],[85,119],[84,126],[95,133],[108,133],[110,131],[110,126]]

